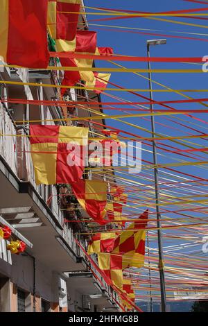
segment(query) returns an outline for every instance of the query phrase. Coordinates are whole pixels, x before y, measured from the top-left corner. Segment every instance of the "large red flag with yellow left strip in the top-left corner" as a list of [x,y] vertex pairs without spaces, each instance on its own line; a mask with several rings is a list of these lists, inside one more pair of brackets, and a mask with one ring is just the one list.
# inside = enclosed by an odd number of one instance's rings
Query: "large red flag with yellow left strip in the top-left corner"
[[48,0],[1,0],[0,57],[10,65],[46,68]]

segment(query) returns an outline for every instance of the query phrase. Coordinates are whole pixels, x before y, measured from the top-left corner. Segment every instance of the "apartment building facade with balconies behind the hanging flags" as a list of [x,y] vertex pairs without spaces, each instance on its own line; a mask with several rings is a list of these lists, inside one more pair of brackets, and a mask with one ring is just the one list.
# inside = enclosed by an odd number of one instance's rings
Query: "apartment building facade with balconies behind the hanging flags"
[[[80,17],[80,22],[80,28],[87,28],[85,17]],[[50,65],[60,66],[60,62],[52,58]],[[70,117],[90,120],[87,101],[100,98],[83,89],[71,89],[62,98],[56,86],[62,81],[63,71],[0,69],[1,80],[9,82],[0,85],[0,225],[8,225],[12,239],[23,240],[27,246],[26,252],[11,255],[7,241],[0,241],[0,311],[117,311],[116,293],[76,242],[87,250],[89,235],[85,233],[89,226],[94,230],[96,225],[64,222],[66,218],[80,221],[85,213],[68,185],[35,184],[28,138],[27,121],[87,126],[94,137],[90,121],[70,121]],[[45,84],[51,87],[43,87]],[[35,104],[35,100],[44,102]],[[83,110],[77,105],[63,108],[56,103],[60,100],[86,101],[86,105]],[[97,122],[105,123],[102,119]],[[89,171],[86,178],[94,177]],[[100,178],[107,180],[104,173]]]

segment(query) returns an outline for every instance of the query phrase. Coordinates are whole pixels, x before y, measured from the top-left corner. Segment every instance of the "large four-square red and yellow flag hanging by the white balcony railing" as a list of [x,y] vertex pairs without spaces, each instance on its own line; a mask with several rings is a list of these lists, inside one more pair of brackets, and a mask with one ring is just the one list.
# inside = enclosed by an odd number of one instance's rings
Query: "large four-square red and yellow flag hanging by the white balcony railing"
[[88,128],[31,125],[30,133],[37,185],[80,180],[85,167]]

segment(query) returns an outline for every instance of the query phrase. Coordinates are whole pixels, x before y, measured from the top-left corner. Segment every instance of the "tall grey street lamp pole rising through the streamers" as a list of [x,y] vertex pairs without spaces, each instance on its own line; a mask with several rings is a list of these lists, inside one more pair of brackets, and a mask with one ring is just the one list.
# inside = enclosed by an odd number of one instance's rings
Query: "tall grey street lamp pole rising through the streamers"
[[[150,58],[150,44],[147,44],[147,55]],[[152,87],[152,76],[151,76],[151,65],[148,61],[148,78],[149,78],[149,89],[150,89],[150,111],[153,112],[153,87]],[[166,312],[166,287],[164,277],[164,257],[162,248],[162,230],[161,230],[161,214],[159,210],[159,187],[158,187],[158,169],[157,169],[157,146],[155,142],[155,117],[151,116],[151,127],[153,137],[153,162],[154,162],[154,176],[155,176],[155,201],[156,201],[156,214],[157,214],[157,240],[158,240],[158,253],[159,253],[159,277],[160,277],[160,291],[161,291],[161,309],[162,312]]]

